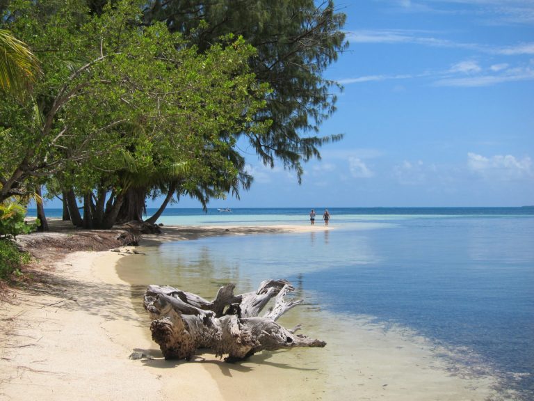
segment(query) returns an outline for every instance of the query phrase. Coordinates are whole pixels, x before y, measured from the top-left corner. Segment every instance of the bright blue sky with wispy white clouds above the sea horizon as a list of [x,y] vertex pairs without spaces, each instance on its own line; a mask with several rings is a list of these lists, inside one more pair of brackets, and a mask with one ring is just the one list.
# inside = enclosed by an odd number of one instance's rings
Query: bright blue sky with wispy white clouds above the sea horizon
[[325,74],[344,91],[321,134],[344,139],[300,186],[249,157],[252,189],[210,206],[533,205],[534,1],[336,6],[350,47]]

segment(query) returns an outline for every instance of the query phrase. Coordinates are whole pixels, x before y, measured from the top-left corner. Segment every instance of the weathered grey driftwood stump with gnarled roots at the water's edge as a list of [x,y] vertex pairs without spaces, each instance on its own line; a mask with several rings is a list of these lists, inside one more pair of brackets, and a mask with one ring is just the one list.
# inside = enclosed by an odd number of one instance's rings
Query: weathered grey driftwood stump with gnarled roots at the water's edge
[[[302,300],[286,301],[294,290],[285,280],[267,280],[255,292],[234,295],[234,284],[221,287],[213,301],[168,286],[149,285],[145,310],[152,317],[152,339],[165,359],[190,360],[199,348],[225,361],[238,361],[262,350],[292,347],[324,347],[326,343],[285,329],[275,321]],[[275,298],[275,305],[259,313]]]

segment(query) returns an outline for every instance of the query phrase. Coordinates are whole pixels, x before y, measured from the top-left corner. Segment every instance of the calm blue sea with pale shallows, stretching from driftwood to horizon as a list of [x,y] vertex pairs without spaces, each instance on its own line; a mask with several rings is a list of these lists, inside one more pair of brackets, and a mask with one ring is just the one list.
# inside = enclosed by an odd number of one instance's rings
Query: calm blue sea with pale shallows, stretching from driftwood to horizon
[[[168,209],[160,222],[308,225],[309,210]],[[286,278],[305,299],[300,319],[327,315],[409,333],[439,349],[451,371],[492,375],[496,391],[534,400],[534,207],[329,211],[332,230],[170,242],[123,258],[118,272],[134,285],[133,297],[151,283],[211,299],[228,282],[241,293]],[[320,228],[323,209],[316,212]],[[302,332],[336,335],[313,326]]]

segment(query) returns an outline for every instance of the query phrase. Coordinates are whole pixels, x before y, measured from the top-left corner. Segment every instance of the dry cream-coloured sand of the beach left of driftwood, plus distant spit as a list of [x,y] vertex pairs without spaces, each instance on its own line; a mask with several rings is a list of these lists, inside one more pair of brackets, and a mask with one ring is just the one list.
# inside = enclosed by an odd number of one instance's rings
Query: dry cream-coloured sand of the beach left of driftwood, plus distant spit
[[[41,236],[52,239],[56,246],[64,235],[75,231],[55,220],[49,222],[58,226],[61,234],[36,233],[29,236],[30,242]],[[307,227],[163,230],[162,235],[142,237],[140,244],[150,246],[229,233],[299,232]],[[10,302],[2,302],[0,400],[169,400],[177,393],[189,400],[225,400],[203,363],[163,360],[148,326],[142,324],[133,308],[131,286],[118,277],[115,269],[118,260],[127,255],[124,251],[134,247],[120,249],[123,252],[58,254],[45,249],[41,254],[44,259],[38,261],[42,280],[13,289]],[[154,355],[154,359],[129,359],[136,351]],[[227,370],[225,362],[213,363],[221,372]],[[240,393],[237,382],[235,386],[236,394]],[[264,395],[265,399],[270,398],[268,393]]]

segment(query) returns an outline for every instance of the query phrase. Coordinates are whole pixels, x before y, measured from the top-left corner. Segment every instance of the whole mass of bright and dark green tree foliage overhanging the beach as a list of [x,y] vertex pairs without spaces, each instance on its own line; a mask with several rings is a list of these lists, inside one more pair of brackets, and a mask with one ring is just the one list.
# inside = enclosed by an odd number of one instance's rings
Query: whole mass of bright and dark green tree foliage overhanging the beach
[[133,187],[205,205],[250,187],[240,136],[299,179],[340,138],[313,136],[334,111],[321,74],[345,46],[332,1],[11,0],[0,12],[42,70],[32,98],[0,99],[0,202],[52,177],[101,215]]

